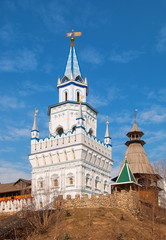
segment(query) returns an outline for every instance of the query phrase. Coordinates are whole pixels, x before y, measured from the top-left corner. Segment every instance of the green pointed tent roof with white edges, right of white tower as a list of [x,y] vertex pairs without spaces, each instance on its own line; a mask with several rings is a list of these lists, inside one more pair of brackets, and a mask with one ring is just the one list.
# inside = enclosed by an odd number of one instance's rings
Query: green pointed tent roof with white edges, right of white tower
[[121,172],[119,173],[116,183],[129,183],[129,182],[137,183],[133,173],[129,168],[128,161],[126,160],[121,169]]

